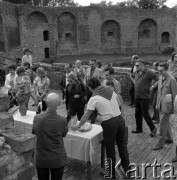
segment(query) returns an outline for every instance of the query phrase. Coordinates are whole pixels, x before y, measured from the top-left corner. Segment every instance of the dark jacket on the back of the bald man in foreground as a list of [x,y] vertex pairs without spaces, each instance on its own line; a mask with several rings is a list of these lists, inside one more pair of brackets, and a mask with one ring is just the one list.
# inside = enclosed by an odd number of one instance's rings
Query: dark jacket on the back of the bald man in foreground
[[56,111],[36,115],[33,125],[37,136],[36,165],[42,168],[59,168],[67,163],[63,136],[67,133],[66,120]]

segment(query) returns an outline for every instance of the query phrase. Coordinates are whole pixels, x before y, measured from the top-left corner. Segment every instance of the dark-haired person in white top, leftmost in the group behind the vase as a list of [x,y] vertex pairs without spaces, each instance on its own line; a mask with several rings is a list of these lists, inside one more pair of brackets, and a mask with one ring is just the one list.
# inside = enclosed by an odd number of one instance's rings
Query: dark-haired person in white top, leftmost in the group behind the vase
[[16,98],[16,91],[14,87],[14,81],[17,77],[17,74],[15,73],[16,66],[14,64],[11,64],[7,67],[9,74],[6,75],[5,79],[5,87],[8,88],[8,95],[10,98],[10,108],[12,108],[14,105],[18,105],[17,98]]

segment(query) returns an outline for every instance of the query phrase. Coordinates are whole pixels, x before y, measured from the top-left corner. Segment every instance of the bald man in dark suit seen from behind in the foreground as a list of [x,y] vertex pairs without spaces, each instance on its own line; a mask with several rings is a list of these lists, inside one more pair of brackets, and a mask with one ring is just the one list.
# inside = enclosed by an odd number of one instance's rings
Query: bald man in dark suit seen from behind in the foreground
[[37,137],[35,165],[38,180],[62,180],[67,154],[63,137],[68,132],[66,119],[57,114],[59,96],[47,95],[47,111],[38,114],[33,121],[33,134]]

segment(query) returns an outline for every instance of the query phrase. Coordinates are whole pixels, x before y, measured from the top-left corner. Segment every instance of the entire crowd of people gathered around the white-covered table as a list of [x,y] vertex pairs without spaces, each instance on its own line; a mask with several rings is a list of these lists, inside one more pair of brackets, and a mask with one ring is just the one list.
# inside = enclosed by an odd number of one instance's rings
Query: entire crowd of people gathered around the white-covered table
[[[131,168],[127,150],[128,132],[124,119],[121,84],[115,78],[114,69],[110,66],[102,69],[95,59],[89,61],[87,69],[82,66],[80,60],[75,62],[74,68],[70,64],[65,65],[65,73],[60,81],[62,99],[65,100],[67,110],[65,119],[57,115],[59,95],[49,94],[50,80],[45,70],[41,67],[31,69],[30,63],[26,62],[28,58],[24,59],[17,69],[15,66],[9,66],[5,86],[9,87],[11,98],[18,97],[18,103],[28,106],[30,96],[34,104],[39,101],[43,103],[45,112],[36,115],[33,124],[33,133],[37,136],[38,179],[48,180],[50,173],[52,180],[62,179],[64,166],[67,164],[63,144],[63,137],[68,131],[67,121],[77,116],[79,123],[71,128],[78,130],[87,120],[94,123],[97,115],[101,117],[106,157],[112,162],[111,178],[115,179],[115,143],[128,178],[127,172]],[[135,107],[136,120],[136,129],[132,130],[132,133],[143,132],[144,118],[151,131],[151,137],[155,137],[157,134],[155,123],[160,122],[160,140],[153,150],[162,149],[165,143],[173,143],[170,117],[174,112],[177,83],[176,76],[169,68],[174,68],[175,62],[177,54],[168,62],[155,62],[154,70],[151,70],[138,55],[132,56],[130,95],[131,106]],[[154,109],[152,118],[149,114],[151,99]],[[177,162],[177,158],[173,161]]]

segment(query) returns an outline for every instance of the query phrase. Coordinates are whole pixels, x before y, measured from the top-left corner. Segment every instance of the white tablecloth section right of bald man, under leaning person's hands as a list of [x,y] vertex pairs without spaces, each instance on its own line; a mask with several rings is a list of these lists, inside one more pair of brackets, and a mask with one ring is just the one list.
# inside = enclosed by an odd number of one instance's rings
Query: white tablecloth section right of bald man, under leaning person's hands
[[92,129],[88,132],[69,131],[64,138],[68,157],[92,163],[96,159],[96,149],[103,139],[102,131],[102,127],[96,124],[92,124]]

